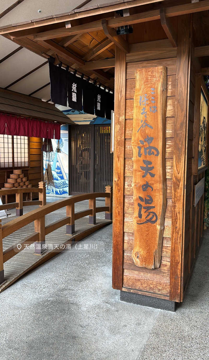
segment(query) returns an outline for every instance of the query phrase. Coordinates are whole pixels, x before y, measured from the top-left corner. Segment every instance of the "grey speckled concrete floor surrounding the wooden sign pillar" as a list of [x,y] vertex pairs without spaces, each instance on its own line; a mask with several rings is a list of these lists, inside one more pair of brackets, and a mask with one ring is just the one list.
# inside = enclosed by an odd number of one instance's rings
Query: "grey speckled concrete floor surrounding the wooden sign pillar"
[[208,239],[175,313],[119,300],[112,225],[83,239],[0,295],[0,360],[208,360]]

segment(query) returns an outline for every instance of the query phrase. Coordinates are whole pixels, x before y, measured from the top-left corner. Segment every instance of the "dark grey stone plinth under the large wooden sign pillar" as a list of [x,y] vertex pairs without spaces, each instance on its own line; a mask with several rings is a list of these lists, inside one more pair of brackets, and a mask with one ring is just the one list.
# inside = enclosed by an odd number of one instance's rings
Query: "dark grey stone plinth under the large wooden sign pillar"
[[160,299],[158,297],[146,296],[128,291],[121,291],[121,301],[130,302],[132,304],[154,307],[167,311],[175,311],[177,303],[175,301]]

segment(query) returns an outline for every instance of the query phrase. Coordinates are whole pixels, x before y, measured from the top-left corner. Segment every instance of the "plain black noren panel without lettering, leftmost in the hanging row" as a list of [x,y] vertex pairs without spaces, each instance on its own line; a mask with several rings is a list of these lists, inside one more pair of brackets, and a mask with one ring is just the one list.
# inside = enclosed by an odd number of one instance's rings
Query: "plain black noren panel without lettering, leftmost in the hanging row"
[[54,58],[49,58],[49,76],[51,86],[51,101],[55,104],[67,106],[67,71],[54,65]]

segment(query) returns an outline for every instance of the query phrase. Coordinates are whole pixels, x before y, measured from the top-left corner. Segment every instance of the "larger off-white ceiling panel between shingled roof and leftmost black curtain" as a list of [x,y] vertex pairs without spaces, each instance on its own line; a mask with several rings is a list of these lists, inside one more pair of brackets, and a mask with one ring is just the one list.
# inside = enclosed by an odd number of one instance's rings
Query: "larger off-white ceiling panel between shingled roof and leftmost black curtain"
[[26,76],[21,81],[18,81],[17,84],[10,86],[8,89],[29,95],[33,91],[39,89],[41,86],[47,84],[47,82],[50,82],[48,64],[42,66],[40,69]]

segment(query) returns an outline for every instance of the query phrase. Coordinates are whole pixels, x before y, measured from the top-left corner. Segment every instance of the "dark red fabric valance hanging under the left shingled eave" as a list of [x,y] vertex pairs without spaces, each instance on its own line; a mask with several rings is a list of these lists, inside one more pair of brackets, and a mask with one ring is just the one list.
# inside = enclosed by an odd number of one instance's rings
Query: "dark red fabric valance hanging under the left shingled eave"
[[0,134],[60,139],[60,124],[0,114]]

